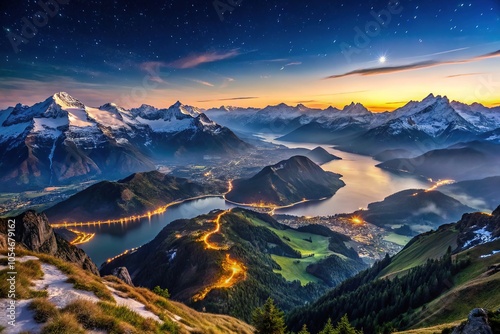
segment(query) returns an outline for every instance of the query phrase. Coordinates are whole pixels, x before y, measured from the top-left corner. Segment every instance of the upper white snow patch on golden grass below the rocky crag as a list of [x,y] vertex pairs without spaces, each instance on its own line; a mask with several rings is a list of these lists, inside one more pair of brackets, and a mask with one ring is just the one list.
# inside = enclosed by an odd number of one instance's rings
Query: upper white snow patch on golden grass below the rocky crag
[[77,299],[90,300],[97,303],[97,298],[93,292],[76,290],[73,284],[67,283],[68,276],[51,264],[42,263],[44,272],[41,280],[33,281],[35,289],[47,290],[47,299],[57,308],[66,307]]

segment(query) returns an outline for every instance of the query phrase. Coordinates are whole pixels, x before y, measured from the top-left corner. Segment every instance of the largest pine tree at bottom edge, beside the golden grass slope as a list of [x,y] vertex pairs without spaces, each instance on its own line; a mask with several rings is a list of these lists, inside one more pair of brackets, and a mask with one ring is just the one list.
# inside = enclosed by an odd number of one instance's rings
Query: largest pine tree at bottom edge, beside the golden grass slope
[[264,306],[258,307],[252,314],[256,334],[285,334],[286,326],[283,312],[268,298]]

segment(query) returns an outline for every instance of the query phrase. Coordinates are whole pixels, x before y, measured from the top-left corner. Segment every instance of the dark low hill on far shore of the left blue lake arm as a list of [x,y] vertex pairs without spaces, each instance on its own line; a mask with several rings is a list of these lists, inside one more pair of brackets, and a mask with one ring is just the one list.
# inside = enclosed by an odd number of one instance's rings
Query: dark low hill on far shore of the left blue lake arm
[[45,214],[52,223],[98,221],[142,215],[168,203],[224,191],[160,172],[136,173],[117,181],[103,181],[71,196]]

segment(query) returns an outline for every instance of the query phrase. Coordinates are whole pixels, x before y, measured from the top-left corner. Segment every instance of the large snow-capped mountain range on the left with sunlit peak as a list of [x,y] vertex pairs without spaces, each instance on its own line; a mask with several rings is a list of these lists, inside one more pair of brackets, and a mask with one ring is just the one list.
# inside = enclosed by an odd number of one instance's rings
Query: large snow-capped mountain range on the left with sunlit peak
[[[155,169],[159,159],[224,155],[249,147],[200,110],[85,106],[57,93],[33,106],[0,111],[0,184],[57,185]],[[18,189],[19,189],[18,188]]]

